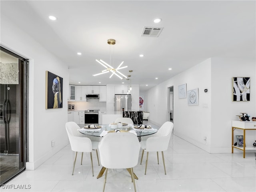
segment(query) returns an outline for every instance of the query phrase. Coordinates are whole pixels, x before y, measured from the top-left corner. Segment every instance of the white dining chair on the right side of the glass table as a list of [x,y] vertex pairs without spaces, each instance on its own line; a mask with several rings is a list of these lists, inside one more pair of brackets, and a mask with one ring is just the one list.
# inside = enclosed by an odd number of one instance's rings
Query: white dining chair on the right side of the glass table
[[[157,162],[159,164],[158,151],[161,151],[163,163],[164,163],[164,151],[168,149],[172,130],[173,130],[173,123],[170,121],[167,121],[160,127],[158,132],[153,134],[152,137],[149,137],[147,138],[147,140],[143,140],[140,142],[140,146],[142,148],[142,156],[141,156],[140,164],[142,163],[144,151],[147,152],[145,175],[146,175],[147,165],[148,165],[148,152],[156,152]],[[164,173],[166,174],[165,163],[164,163]]]

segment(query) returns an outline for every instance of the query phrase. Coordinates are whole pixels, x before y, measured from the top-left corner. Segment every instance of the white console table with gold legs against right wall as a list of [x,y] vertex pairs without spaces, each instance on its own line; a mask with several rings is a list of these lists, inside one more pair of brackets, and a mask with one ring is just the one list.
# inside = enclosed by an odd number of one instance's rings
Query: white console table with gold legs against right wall
[[[241,129],[243,130],[243,136],[244,136],[244,146],[238,147],[234,146],[234,130],[235,129]],[[245,146],[245,138],[246,138],[246,130],[256,130],[256,122],[255,121],[232,121],[232,153],[234,151],[234,148],[243,150],[244,152],[244,158],[245,158],[245,150],[256,150],[255,147],[246,147]]]

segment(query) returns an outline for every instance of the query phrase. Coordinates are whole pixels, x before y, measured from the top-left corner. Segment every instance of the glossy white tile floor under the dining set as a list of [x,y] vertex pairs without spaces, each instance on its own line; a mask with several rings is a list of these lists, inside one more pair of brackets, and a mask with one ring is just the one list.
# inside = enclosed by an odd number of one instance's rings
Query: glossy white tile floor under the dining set
[[[242,157],[242,153],[209,154],[172,135],[169,148],[164,152],[167,174],[164,174],[161,153],[159,165],[156,153],[150,153],[147,174],[144,175],[146,157],[144,155],[142,165],[140,165],[141,152],[138,165],[134,168],[134,172],[139,178],[135,181],[138,192],[256,191],[255,153],[246,153],[246,158]],[[98,166],[95,152],[93,152],[94,177],[92,177],[90,155],[84,154],[82,165],[80,165],[80,159],[81,155],[79,154],[72,176],[74,152],[68,145],[36,170],[26,170],[0,190],[1,192],[102,191],[104,175],[97,179],[97,174],[102,166]],[[12,189],[6,189],[7,185],[13,185]],[[18,186],[26,186],[30,189],[17,189]],[[128,172],[126,170],[109,170],[105,191],[134,191]]]

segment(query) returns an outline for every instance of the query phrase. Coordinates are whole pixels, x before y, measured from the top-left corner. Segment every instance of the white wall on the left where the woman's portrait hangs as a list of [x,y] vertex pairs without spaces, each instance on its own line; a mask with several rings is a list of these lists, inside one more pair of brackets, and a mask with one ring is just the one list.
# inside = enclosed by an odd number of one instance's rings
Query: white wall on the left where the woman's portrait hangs
[[[69,89],[68,66],[26,32],[20,30],[4,14],[1,14],[1,46],[30,59],[29,162],[26,163],[26,168],[33,170],[68,144],[65,129]],[[46,70],[63,78],[63,108],[61,109],[45,109]],[[55,140],[54,147],[51,147],[52,140]]]

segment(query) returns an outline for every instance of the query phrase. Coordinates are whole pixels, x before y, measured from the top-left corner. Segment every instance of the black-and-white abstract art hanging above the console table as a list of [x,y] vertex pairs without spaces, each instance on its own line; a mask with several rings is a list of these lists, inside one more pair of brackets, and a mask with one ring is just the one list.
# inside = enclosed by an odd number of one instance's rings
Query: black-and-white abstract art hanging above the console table
[[250,101],[250,77],[233,77],[232,101]]

